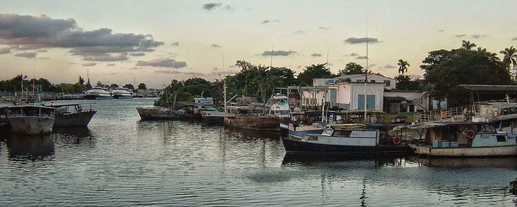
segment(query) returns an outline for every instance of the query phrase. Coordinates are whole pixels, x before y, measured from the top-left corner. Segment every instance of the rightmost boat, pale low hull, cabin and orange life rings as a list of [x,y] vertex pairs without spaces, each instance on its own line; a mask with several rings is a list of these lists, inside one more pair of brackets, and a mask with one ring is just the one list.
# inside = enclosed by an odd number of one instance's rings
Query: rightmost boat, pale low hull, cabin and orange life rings
[[400,130],[418,130],[421,143],[409,146],[427,157],[517,155],[517,135],[497,131],[491,121],[440,121],[402,126]]

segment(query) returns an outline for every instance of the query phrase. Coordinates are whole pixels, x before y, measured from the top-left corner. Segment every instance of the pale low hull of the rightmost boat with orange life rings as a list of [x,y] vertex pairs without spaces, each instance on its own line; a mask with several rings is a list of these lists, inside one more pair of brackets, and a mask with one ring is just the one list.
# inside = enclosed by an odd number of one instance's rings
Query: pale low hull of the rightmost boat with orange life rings
[[517,155],[517,146],[493,146],[474,148],[432,148],[412,146],[418,155],[428,157],[503,157]]

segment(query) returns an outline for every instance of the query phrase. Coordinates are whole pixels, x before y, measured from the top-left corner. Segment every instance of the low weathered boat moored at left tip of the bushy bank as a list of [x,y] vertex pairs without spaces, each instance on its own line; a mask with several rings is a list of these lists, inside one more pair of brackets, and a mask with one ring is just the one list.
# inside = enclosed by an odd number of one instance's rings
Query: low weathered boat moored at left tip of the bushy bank
[[166,108],[161,106],[150,106],[136,107],[136,111],[139,112],[142,120],[154,120],[154,119],[168,119],[168,120],[181,120],[187,119],[185,110],[175,110],[172,108]]

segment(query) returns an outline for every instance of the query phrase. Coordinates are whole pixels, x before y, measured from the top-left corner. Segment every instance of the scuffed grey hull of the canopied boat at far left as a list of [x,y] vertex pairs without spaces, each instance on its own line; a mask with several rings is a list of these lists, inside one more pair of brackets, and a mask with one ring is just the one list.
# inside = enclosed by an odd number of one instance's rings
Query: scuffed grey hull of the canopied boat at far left
[[8,121],[10,132],[17,135],[49,135],[54,126],[51,117],[10,117]]

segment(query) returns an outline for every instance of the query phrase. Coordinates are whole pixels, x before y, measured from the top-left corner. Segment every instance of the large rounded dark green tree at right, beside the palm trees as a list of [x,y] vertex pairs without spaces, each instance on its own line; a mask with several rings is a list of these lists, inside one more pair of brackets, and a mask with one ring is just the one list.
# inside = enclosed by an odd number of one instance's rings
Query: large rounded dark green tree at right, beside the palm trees
[[463,48],[429,52],[420,66],[432,95],[447,96],[449,88],[458,84],[507,85],[511,83],[505,63],[487,50],[469,50],[474,43],[464,42]]

